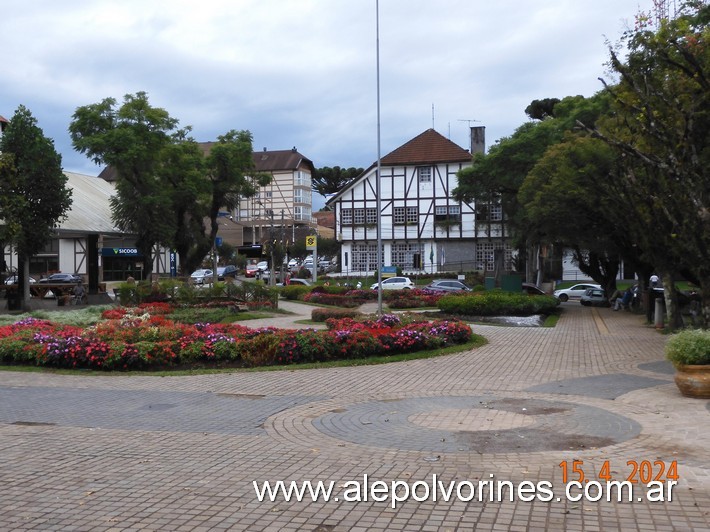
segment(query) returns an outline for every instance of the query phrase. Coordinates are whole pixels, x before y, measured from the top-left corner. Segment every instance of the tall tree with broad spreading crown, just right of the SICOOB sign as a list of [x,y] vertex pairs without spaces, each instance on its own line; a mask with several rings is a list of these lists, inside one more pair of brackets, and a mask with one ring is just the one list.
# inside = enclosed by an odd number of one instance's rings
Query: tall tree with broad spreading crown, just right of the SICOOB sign
[[147,274],[153,268],[153,247],[170,244],[174,237],[172,201],[160,168],[177,125],[167,111],[150,105],[145,92],[138,92],[127,94],[121,106],[106,98],[79,107],[69,126],[77,151],[115,168],[114,223],[137,235],[136,247],[145,257]]

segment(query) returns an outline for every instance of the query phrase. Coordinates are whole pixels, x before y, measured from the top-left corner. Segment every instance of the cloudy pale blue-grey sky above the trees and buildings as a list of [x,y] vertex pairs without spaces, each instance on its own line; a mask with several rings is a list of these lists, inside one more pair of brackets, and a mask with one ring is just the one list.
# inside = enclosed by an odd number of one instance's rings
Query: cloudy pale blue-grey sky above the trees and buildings
[[[101,170],[71,147],[75,109],[138,91],[198,141],[248,129],[255,149],[296,146],[316,167],[377,159],[375,0],[2,4],[0,115],[28,107],[66,170]],[[430,127],[468,148],[482,125],[490,146],[532,100],[592,95],[608,44],[650,5],[380,0],[382,155]]]

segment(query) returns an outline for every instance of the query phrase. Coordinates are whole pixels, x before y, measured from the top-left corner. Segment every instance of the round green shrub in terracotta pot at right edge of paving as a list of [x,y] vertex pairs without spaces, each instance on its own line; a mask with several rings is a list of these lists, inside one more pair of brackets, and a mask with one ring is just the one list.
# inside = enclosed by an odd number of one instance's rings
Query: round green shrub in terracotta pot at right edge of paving
[[676,368],[675,383],[686,397],[710,399],[710,331],[687,329],[666,342],[666,358]]

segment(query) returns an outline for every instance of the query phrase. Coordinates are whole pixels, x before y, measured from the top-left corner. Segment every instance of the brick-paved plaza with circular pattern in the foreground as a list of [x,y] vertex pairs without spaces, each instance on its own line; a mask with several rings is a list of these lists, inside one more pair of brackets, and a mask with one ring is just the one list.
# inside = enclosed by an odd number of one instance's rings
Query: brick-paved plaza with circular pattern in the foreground
[[[284,306],[245,324],[299,327],[312,309]],[[641,316],[562,307],[554,328],[474,325],[483,347],[386,365],[0,372],[0,529],[710,530],[710,402],[679,394]],[[593,482],[568,497],[565,473]],[[609,476],[658,478],[672,500],[641,482],[631,502],[580,497]],[[333,490],[260,502],[254,481]],[[513,500],[469,489],[494,482]],[[379,497],[393,483],[411,497]]]

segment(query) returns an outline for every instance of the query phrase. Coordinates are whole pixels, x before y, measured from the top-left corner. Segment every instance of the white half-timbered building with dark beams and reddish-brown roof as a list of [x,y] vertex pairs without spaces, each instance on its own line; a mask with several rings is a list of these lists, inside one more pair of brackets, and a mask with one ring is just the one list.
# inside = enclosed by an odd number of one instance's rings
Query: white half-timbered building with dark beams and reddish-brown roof
[[[482,127],[471,128],[472,151],[428,129],[374,163],[330,198],[343,272],[377,270],[377,225],[382,266],[404,272],[511,268],[500,204],[458,202],[457,174],[483,150]],[[377,210],[379,178],[380,211]],[[498,264],[496,264],[498,262]]]

